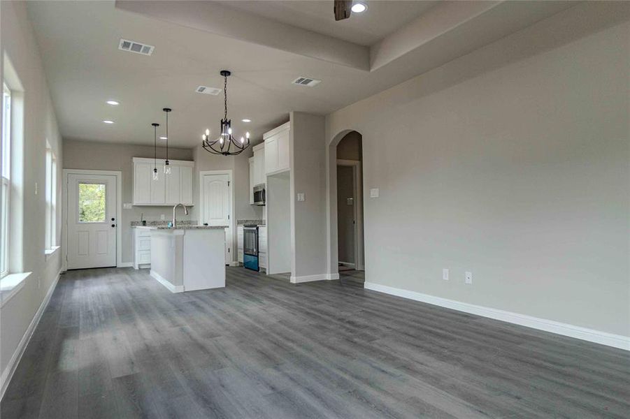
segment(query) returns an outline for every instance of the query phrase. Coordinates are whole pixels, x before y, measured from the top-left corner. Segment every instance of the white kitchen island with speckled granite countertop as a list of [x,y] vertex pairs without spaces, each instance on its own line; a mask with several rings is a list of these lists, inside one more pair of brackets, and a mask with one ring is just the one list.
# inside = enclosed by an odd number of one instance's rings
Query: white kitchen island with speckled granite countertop
[[172,293],[224,288],[227,226],[138,227],[151,231],[151,277]]

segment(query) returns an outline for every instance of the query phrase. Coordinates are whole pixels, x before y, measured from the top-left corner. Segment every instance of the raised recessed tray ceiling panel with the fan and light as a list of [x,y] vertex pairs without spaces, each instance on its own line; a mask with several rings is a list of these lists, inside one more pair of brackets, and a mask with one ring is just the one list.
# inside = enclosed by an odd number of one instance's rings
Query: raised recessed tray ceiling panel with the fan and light
[[438,0],[364,1],[368,5],[366,12],[352,13],[348,19],[339,22],[335,21],[333,14],[333,0],[243,0],[220,3],[319,34],[368,46],[420,16],[438,3]]

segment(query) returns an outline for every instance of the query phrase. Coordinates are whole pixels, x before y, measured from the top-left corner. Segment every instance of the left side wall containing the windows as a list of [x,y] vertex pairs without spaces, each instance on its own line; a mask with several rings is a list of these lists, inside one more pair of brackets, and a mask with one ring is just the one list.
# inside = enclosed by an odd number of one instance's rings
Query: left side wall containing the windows
[[[12,251],[21,256],[20,270],[33,272],[26,284],[0,309],[0,371],[8,373],[9,362],[36,311],[51,289],[61,269],[61,251],[45,260],[45,151],[46,140],[57,156],[57,243],[62,233],[61,168],[62,146],[57,119],[52,108],[48,86],[34,38],[27,19],[26,3],[0,2],[0,50],[13,64],[20,78],[24,98],[23,196],[20,216],[24,226],[20,239],[12,241]],[[0,62],[3,61],[0,59]],[[2,65],[2,78],[7,68]],[[17,96],[17,95],[16,95]],[[14,108],[14,112],[17,109]],[[14,163],[15,164],[15,163]],[[38,193],[35,193],[35,184]],[[17,194],[13,199],[17,200]],[[15,216],[16,214],[13,214]],[[15,226],[14,226],[15,227]],[[10,267],[13,270],[15,264]],[[4,383],[3,383],[4,384]]]

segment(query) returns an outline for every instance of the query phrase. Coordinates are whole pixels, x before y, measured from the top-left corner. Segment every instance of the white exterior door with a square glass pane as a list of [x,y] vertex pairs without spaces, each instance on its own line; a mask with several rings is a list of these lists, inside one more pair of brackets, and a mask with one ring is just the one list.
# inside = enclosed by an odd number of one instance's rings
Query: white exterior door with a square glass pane
[[116,266],[116,177],[68,175],[68,269]]

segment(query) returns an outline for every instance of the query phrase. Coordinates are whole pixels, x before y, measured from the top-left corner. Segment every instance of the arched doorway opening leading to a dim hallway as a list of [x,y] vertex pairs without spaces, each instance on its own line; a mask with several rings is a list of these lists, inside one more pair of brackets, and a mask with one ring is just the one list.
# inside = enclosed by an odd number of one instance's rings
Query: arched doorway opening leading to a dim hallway
[[358,131],[337,135],[329,152],[331,181],[331,271],[364,282],[363,138]]

